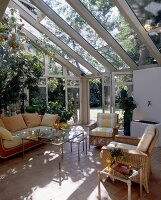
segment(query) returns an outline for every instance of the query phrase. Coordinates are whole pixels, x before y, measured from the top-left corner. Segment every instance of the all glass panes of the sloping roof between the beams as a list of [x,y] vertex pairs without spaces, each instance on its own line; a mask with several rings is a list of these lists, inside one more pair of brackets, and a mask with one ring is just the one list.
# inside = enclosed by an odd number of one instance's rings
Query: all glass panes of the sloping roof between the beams
[[[12,1],[12,0],[11,0]],[[115,69],[128,69],[129,66],[122,58],[88,25],[88,23],[65,1],[65,0],[42,0],[53,9],[68,25],[70,25],[89,45],[100,53]],[[65,43],[84,60],[91,64],[99,72],[105,72],[105,67],[94,58],[90,51],[86,51],[81,43],[76,42],[72,37],[65,33],[61,27],[58,27],[45,14],[32,5],[32,1],[18,0],[31,13],[31,16],[37,16],[37,22],[41,23],[47,30],[53,33],[59,40]],[[95,19],[107,30],[108,33],[118,42],[123,50],[139,66],[157,63],[153,56],[146,49],[145,45],[138,39],[132,26],[125,21],[124,17],[115,6],[113,0],[80,0],[80,2],[89,10]],[[148,32],[149,36],[161,51],[161,0],[126,0],[135,15]],[[40,16],[40,18],[39,18]],[[35,17],[34,17],[35,20]],[[27,20],[28,21],[28,20]],[[60,54],[63,58],[72,63],[82,71],[82,74],[91,74],[84,66],[74,59],[74,55],[68,55],[63,49],[55,45],[49,38],[36,30],[33,26],[23,20],[24,28],[36,36],[40,41],[44,41],[49,51]],[[45,32],[45,30],[44,30]],[[155,52],[153,52],[154,54]],[[120,54],[121,55],[121,54]],[[108,66],[107,66],[108,67]]]

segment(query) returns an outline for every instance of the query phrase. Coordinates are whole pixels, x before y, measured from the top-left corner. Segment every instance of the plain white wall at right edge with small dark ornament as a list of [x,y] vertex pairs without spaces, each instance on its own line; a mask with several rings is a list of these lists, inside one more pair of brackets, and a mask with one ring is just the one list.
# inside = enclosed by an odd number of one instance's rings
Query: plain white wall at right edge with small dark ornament
[[[133,84],[137,103],[133,120],[161,123],[161,68],[134,71]],[[151,101],[150,106],[148,101]]]

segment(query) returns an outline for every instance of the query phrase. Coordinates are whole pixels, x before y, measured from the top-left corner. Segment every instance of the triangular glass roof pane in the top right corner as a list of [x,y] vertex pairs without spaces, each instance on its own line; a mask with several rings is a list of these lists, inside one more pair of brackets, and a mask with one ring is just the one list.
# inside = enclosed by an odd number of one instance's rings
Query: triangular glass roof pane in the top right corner
[[161,52],[161,0],[128,0],[127,3]]

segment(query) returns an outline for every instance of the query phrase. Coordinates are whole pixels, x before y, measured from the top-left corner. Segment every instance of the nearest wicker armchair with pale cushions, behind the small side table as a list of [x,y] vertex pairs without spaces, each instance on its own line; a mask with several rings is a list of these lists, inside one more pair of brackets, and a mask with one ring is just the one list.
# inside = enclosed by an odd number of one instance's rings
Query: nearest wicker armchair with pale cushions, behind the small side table
[[[149,127],[146,128],[146,131],[148,130],[148,128]],[[143,186],[146,192],[149,193],[148,181],[149,181],[149,175],[151,172],[151,154],[159,135],[156,128],[153,127],[153,130],[154,130],[154,135],[151,141],[149,142],[146,152],[138,150],[139,142],[141,140],[143,141],[143,136],[142,138],[129,137],[129,136],[115,136],[115,139],[113,142],[110,142],[109,145],[102,147],[102,151],[101,151],[102,169],[104,169],[107,166],[107,160],[111,159],[111,154],[110,154],[109,149],[116,148],[116,147],[121,148],[124,152],[124,158],[121,159],[120,162],[123,164],[131,165],[134,168],[138,168],[138,169],[142,168]],[[139,176],[134,177],[132,181],[139,183]]]

